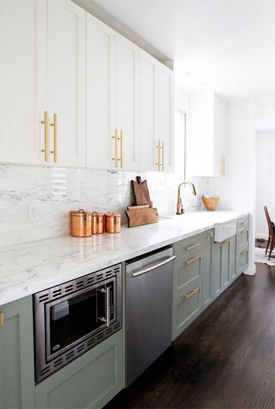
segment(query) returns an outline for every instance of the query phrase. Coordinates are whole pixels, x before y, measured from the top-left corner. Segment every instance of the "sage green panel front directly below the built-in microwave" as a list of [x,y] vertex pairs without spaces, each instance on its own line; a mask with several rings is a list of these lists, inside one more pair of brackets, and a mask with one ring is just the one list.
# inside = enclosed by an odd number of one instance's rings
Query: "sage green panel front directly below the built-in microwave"
[[36,385],[37,408],[102,408],[123,388],[122,330]]

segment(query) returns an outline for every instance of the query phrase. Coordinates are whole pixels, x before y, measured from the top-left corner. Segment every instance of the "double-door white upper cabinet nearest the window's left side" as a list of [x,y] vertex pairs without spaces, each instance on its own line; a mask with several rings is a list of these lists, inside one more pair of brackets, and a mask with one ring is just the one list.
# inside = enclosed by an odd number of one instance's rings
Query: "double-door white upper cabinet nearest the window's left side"
[[140,50],[140,170],[174,171],[174,73]]

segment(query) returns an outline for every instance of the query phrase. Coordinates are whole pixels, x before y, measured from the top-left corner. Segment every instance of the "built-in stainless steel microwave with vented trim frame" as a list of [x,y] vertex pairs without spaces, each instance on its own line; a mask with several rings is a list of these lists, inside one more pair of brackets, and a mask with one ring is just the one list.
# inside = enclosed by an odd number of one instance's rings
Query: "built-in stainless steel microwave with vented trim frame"
[[36,382],[121,328],[121,265],[34,294]]

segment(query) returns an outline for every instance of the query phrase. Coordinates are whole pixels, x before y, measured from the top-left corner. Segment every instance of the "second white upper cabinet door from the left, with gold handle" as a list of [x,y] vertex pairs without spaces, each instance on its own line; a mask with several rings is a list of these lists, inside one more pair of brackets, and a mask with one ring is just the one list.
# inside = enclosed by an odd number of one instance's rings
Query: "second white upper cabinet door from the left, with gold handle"
[[[48,0],[48,115],[56,114],[56,163],[86,165],[86,12],[70,0]],[[55,150],[54,128],[49,145]],[[50,155],[54,162],[54,154]]]

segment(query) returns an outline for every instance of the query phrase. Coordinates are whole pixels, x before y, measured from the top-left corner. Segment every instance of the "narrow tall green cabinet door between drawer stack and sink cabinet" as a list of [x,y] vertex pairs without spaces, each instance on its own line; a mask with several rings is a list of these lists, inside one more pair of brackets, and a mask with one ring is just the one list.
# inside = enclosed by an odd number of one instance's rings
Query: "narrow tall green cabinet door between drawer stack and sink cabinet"
[[204,234],[202,309],[208,307],[214,300],[214,229],[206,231]]

